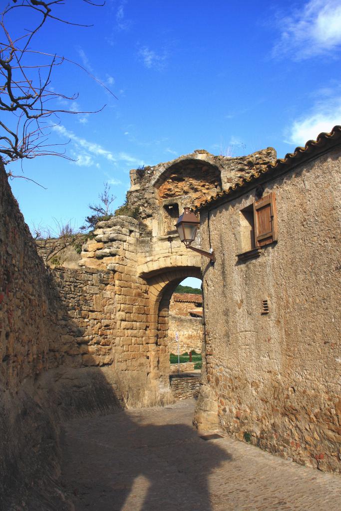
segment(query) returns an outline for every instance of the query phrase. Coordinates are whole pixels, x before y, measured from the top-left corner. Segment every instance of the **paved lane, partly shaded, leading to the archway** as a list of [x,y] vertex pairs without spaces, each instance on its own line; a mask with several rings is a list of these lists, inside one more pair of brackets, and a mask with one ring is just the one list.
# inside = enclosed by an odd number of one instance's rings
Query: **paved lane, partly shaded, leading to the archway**
[[192,427],[194,400],[67,424],[76,511],[340,511],[341,477]]

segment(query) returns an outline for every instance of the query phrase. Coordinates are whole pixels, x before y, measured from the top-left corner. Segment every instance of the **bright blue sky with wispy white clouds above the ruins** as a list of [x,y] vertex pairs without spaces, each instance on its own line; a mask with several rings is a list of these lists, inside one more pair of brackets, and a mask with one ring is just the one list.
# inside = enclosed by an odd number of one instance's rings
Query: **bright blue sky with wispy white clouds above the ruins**
[[94,27],[51,22],[32,48],[79,62],[118,99],[75,65],[57,69],[55,90],[79,92],[73,109],[106,107],[64,115],[52,131],[77,161],[24,162],[24,175],[47,190],[11,181],[29,225],[79,227],[105,181],[118,207],[139,165],[201,148],[238,156],[272,146],[283,157],[341,124],[341,0],[65,4],[60,15]]

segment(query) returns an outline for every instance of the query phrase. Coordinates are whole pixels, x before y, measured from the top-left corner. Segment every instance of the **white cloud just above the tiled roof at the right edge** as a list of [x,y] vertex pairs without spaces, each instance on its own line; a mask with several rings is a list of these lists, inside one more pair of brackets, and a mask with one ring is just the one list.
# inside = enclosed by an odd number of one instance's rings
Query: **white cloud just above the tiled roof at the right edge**
[[320,133],[329,133],[337,124],[341,124],[341,97],[324,98],[292,122],[285,142],[304,146],[308,140],[316,140]]

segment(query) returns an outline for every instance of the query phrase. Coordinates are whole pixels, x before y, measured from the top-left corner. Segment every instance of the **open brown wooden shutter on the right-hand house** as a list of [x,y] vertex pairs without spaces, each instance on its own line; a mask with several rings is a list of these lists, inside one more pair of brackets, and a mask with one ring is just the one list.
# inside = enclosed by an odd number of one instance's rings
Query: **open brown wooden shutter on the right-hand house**
[[277,212],[275,192],[254,202],[256,247],[277,241]]

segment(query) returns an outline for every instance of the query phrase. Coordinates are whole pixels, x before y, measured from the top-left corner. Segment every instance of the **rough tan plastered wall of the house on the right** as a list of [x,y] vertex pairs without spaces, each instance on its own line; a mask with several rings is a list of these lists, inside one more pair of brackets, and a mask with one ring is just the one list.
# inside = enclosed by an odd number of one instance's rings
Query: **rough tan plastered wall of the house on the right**
[[[269,174],[269,178],[271,178]],[[239,198],[201,212],[216,263],[203,277],[207,384],[196,422],[325,471],[341,472],[340,148],[264,183],[278,243],[238,261]],[[239,193],[240,195],[240,193]],[[262,300],[269,312],[262,314]],[[204,380],[203,380],[204,383]]]

